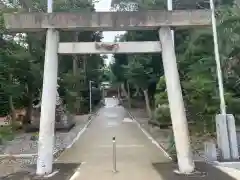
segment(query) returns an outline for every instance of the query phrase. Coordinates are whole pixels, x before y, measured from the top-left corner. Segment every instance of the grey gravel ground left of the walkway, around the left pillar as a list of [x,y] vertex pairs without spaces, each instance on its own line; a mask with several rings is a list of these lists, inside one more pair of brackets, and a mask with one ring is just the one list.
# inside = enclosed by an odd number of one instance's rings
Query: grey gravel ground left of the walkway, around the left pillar
[[[55,138],[54,153],[70,145],[78,132],[88,122],[89,115],[75,116],[76,125],[69,132],[57,132]],[[37,141],[30,140],[34,133],[22,133],[11,142],[0,146],[0,155],[3,154],[37,154]],[[57,153],[58,154],[58,153]],[[28,158],[0,157],[0,177],[27,168],[30,164],[36,164],[37,156]],[[1,178],[0,178],[1,179]]]

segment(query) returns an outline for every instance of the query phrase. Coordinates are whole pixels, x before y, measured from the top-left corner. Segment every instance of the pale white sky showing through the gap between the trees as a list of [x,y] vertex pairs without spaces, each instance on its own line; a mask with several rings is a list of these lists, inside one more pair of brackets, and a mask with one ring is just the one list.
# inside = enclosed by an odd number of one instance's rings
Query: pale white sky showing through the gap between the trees
[[[99,0],[98,3],[95,3],[96,11],[110,11],[111,8],[111,0]],[[106,31],[103,32],[103,42],[113,42],[114,38],[118,34],[123,34],[124,31]],[[108,59],[106,60],[106,64],[109,64],[112,59],[112,54],[108,54]]]

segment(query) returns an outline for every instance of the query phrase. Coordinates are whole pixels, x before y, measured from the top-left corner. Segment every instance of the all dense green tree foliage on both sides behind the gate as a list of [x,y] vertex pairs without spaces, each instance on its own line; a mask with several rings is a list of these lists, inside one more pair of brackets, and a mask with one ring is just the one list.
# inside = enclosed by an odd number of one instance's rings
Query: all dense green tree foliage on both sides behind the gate
[[[0,1],[0,114],[14,114],[18,108],[27,108],[29,115],[34,99],[41,94],[45,34],[9,34],[4,29],[2,14],[17,11],[46,11],[46,4],[34,0]],[[54,11],[94,11],[87,1],[54,1]],[[118,11],[166,9],[166,0],[144,1],[129,5],[127,0],[114,1]],[[113,4],[114,4],[113,3]],[[224,77],[227,112],[238,120],[240,95],[239,41],[240,10],[232,0],[217,1],[217,29]],[[204,0],[174,2],[175,9],[209,8]],[[101,32],[61,32],[61,41],[101,41]],[[175,29],[175,48],[183,98],[189,121],[213,130],[215,114],[219,112],[219,93],[213,51],[212,29]],[[129,31],[116,41],[157,41],[157,31]],[[73,113],[88,111],[89,80],[95,83],[93,92],[98,102],[101,81],[112,81],[131,99],[145,101],[152,119],[170,122],[165,77],[161,54],[116,54],[110,70],[100,55],[59,56],[60,96]],[[26,121],[28,121],[27,116]]]

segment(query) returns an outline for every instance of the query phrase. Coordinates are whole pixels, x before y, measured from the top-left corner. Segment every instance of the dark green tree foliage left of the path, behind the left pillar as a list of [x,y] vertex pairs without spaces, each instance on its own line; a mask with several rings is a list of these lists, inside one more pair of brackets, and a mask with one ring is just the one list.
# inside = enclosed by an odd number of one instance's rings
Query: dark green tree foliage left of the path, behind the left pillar
[[[8,2],[8,3],[6,3]],[[31,2],[30,4],[28,4]],[[26,108],[29,122],[32,104],[41,98],[45,33],[10,34],[4,28],[3,13],[46,12],[46,1],[0,1],[0,116]],[[55,0],[54,11],[94,11],[87,1]],[[60,41],[101,41],[101,32],[61,32]],[[94,81],[93,102],[101,98],[99,83],[103,58],[100,55],[59,55],[59,93],[72,113],[89,110],[89,81]],[[15,117],[15,116],[13,116]]]

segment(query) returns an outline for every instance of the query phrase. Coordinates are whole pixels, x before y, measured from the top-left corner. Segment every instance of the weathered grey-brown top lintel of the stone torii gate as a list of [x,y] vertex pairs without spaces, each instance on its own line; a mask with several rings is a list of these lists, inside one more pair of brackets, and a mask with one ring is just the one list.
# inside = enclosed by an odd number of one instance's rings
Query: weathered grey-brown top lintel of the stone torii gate
[[161,26],[208,26],[210,10],[15,13],[4,15],[5,26],[14,32],[41,31],[56,28],[63,31],[149,30]]

